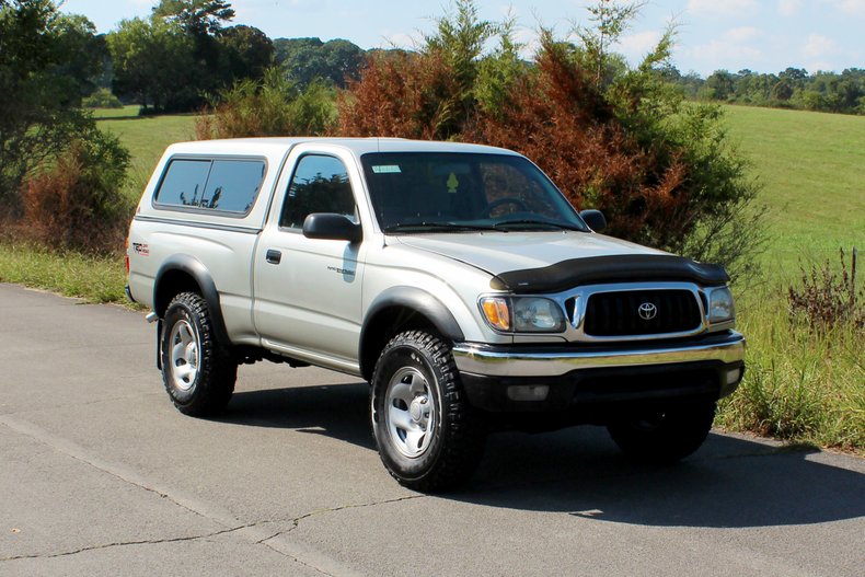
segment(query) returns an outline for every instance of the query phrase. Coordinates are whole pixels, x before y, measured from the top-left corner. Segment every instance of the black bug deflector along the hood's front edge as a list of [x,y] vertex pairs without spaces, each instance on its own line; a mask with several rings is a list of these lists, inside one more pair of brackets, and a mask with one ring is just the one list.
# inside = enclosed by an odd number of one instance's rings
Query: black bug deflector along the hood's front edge
[[489,286],[517,293],[561,292],[580,285],[601,282],[688,281],[707,287],[729,281],[724,267],[681,256],[627,254],[572,258],[542,268],[496,275]]

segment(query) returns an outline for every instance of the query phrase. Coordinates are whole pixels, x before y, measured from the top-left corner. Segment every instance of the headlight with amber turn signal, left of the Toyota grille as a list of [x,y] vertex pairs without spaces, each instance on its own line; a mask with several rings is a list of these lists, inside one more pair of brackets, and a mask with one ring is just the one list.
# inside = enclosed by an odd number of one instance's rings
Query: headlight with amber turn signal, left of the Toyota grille
[[561,333],[565,315],[553,300],[541,297],[484,297],[481,311],[489,326],[514,333]]

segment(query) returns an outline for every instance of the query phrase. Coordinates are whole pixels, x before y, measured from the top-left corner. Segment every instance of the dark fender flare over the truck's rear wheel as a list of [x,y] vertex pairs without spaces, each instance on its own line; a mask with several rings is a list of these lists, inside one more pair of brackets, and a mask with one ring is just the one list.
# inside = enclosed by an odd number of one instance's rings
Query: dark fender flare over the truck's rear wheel
[[200,261],[185,254],[166,258],[157,273],[157,281],[153,286],[153,311],[160,319],[165,316],[171,300],[181,292],[197,292],[205,299],[210,309],[210,322],[217,342],[228,345],[230,341],[214,277]]

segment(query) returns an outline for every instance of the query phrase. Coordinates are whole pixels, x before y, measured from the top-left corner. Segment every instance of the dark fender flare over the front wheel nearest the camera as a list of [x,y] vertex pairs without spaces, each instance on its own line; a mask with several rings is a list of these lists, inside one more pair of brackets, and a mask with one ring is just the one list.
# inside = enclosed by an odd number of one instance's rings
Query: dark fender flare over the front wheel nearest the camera
[[372,301],[360,330],[358,359],[366,380],[384,345],[410,328],[435,332],[451,343],[465,339],[457,319],[436,297],[416,287],[389,288]]

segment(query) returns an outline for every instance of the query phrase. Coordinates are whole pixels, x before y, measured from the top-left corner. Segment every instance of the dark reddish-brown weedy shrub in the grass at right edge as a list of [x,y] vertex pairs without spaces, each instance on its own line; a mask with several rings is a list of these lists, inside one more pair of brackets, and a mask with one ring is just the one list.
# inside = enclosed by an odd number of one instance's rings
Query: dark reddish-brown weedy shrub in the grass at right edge
[[865,328],[865,287],[856,290],[856,249],[850,258],[850,270],[840,249],[841,273],[829,263],[801,270],[801,289],[789,287],[787,301],[793,322],[804,321],[816,333],[826,333],[839,325]]

